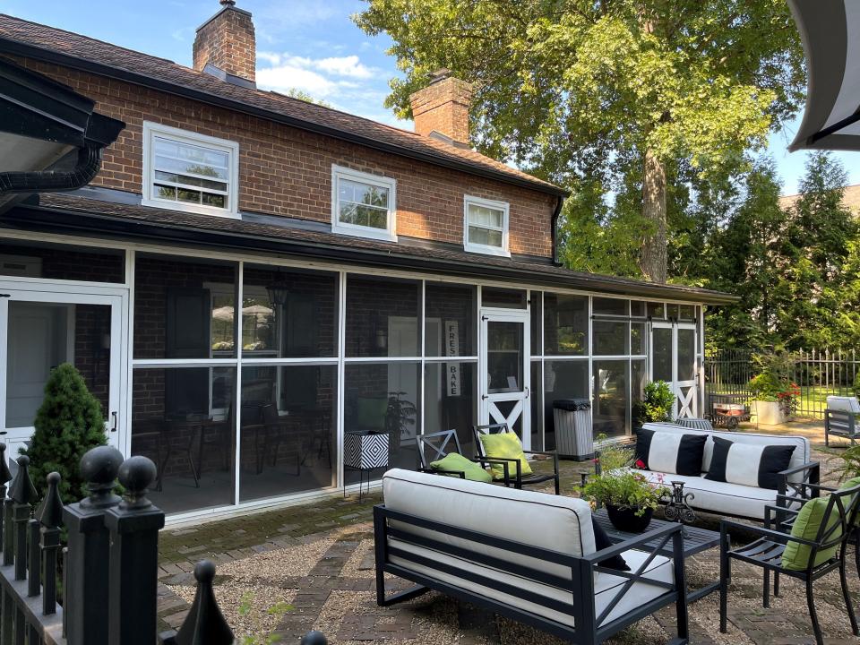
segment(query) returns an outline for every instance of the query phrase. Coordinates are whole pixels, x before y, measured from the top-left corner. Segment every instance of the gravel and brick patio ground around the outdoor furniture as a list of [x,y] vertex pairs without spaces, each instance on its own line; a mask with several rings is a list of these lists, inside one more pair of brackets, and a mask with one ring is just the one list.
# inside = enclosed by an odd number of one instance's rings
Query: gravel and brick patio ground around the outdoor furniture
[[[813,459],[822,462],[822,480],[832,481],[827,455],[819,450],[823,445],[820,424],[796,423],[767,431],[809,436],[815,446]],[[589,462],[563,461],[563,493],[571,491],[579,483],[580,473],[589,468]],[[160,621],[170,626],[181,623],[193,598],[193,564],[209,557],[219,565],[216,593],[237,637],[246,632],[258,636],[275,633],[282,642],[297,642],[308,630],[319,629],[335,643],[561,642],[434,592],[398,606],[376,606],[370,519],[373,504],[380,500],[378,494],[360,504],[356,497],[335,497],[325,503],[165,530],[160,542]],[[716,516],[700,515],[697,525],[716,529],[718,521]],[[764,609],[761,572],[735,566],[729,632],[718,632],[718,594],[712,594],[690,606],[693,642],[764,645],[812,641],[799,583],[786,581],[780,598],[772,599],[770,609]],[[687,576],[692,587],[717,580],[718,549],[688,560]],[[855,598],[860,598],[860,581],[851,570],[849,584]],[[855,642],[838,576],[831,575],[818,589],[825,589],[819,596],[819,614],[828,642]],[[251,610],[240,615],[238,607],[243,601]],[[282,616],[269,615],[268,607],[281,601],[292,610]],[[674,610],[666,608],[608,642],[666,642],[673,624]]]

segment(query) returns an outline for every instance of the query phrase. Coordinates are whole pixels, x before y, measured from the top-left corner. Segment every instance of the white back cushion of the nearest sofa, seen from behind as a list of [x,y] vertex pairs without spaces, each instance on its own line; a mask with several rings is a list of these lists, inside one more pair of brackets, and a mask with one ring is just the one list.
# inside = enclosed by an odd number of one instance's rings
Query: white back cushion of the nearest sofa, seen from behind
[[[589,503],[581,499],[402,469],[391,469],[383,475],[383,495],[386,508],[392,511],[460,529],[565,555],[588,555],[595,551],[591,509]],[[571,577],[570,567],[548,565],[529,556],[428,529],[412,528],[402,522],[396,525],[445,544],[553,572],[568,580]]]

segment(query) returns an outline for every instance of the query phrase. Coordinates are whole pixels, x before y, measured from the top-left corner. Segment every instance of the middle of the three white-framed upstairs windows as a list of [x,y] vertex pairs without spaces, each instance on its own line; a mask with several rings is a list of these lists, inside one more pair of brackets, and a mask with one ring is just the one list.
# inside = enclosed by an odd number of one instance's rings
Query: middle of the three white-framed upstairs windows
[[331,230],[396,242],[397,182],[332,164]]

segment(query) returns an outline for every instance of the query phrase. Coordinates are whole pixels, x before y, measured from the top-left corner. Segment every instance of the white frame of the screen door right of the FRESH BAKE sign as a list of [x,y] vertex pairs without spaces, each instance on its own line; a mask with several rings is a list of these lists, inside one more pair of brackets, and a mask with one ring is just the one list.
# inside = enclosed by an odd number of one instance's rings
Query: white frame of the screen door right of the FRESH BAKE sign
[[[521,419],[522,447],[531,450],[531,335],[529,330],[530,315],[527,309],[497,309],[482,307],[480,310],[480,333],[478,335],[478,423],[485,426],[490,423],[507,421],[513,426],[518,418]],[[489,377],[487,374],[487,324],[488,323],[520,323],[522,325],[522,386],[521,391],[489,393]],[[516,401],[511,413],[501,418],[501,412],[495,407],[496,402]],[[495,415],[494,415],[495,413]]]

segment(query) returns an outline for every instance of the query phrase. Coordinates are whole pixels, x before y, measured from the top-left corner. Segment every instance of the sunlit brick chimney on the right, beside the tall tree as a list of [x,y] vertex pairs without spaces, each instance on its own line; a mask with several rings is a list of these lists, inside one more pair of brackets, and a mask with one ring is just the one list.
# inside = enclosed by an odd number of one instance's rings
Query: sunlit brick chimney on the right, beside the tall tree
[[439,70],[423,90],[409,97],[415,131],[425,136],[436,132],[460,144],[469,143],[470,83]]

